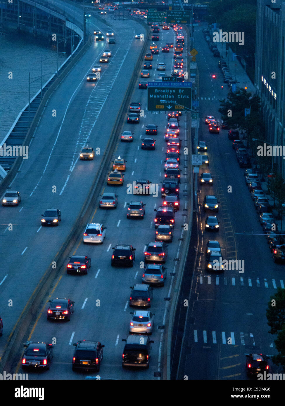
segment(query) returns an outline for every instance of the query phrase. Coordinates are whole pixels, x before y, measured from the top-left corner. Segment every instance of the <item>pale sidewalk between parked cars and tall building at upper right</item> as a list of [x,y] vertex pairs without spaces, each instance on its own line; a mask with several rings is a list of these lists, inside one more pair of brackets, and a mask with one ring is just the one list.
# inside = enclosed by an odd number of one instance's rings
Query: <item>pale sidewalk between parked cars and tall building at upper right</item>
[[[214,31],[219,31],[219,30],[218,29],[213,30],[213,28],[211,28],[211,26],[209,26],[210,38],[213,37],[212,34]],[[236,78],[236,80],[238,82],[237,90],[239,90],[239,88],[244,88],[245,86],[247,86],[247,91],[251,92],[252,95],[254,95],[256,92],[256,88],[252,84],[252,82],[251,82],[250,78],[247,76],[247,74],[244,75],[244,67],[243,67],[243,65],[241,65],[239,60],[235,59],[235,61],[233,61],[233,51],[231,50],[230,46],[228,47],[228,50],[226,51],[226,43],[216,42],[215,44],[217,45],[218,51],[220,51],[220,55],[221,55],[221,57],[217,58],[217,60],[224,59],[226,61],[226,64],[228,65],[232,78],[233,79]],[[238,47],[239,47],[239,45],[237,45],[237,48]],[[226,52],[228,52],[227,56],[226,56]]]

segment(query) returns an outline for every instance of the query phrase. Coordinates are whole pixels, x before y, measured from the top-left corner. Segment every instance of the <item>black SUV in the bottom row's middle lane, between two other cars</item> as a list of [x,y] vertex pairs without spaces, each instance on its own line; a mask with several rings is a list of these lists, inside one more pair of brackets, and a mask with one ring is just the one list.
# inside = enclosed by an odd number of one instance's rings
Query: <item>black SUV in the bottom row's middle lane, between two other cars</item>
[[81,340],[73,344],[76,348],[72,358],[72,371],[92,369],[99,371],[104,345],[100,341]]

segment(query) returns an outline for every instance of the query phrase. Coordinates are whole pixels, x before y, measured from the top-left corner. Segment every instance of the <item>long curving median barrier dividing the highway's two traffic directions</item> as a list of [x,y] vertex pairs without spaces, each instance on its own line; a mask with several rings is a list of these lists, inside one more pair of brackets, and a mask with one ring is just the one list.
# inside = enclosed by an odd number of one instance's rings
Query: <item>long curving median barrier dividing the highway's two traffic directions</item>
[[[142,24],[142,23],[140,23],[140,24],[146,26],[145,24]],[[72,230],[70,231],[69,235],[67,236],[65,242],[60,247],[59,252],[57,253],[56,257],[54,258],[54,261],[57,263],[57,268],[53,269],[52,263],[50,263],[50,265],[46,269],[46,272],[41,277],[41,280],[39,281],[39,284],[37,285],[36,289],[34,290],[32,296],[28,300],[28,303],[24,307],[24,310],[22,311],[20,317],[18,318],[15,326],[13,327],[13,330],[8,338],[7,345],[4,348],[4,356],[0,360],[1,373],[3,373],[3,371],[8,372],[11,370],[11,367],[13,365],[13,359],[15,358],[15,356],[17,354],[21,341],[24,338],[24,335],[26,334],[26,331],[27,331],[30,323],[32,322],[33,317],[36,315],[36,313],[39,309],[39,305],[40,305],[41,301],[46,296],[46,292],[48,292],[48,289],[52,285],[54,279],[59,275],[61,267],[63,266],[63,263],[65,262],[65,258],[70,253],[72,246],[74,245],[74,243],[76,242],[76,240],[78,239],[78,237],[80,235],[80,230],[86,224],[89,216],[92,213],[92,210],[96,203],[98,195],[101,192],[102,184],[105,181],[105,177],[102,177],[102,174],[104,172],[107,173],[107,171],[108,171],[108,168],[109,168],[109,165],[111,162],[111,158],[113,155],[113,151],[114,151],[115,145],[116,145],[115,141],[119,138],[119,134],[122,131],[122,126],[124,125],[124,121],[123,121],[124,115],[126,114],[126,110],[128,109],[128,104],[131,99],[131,93],[133,90],[133,86],[134,86],[135,81],[137,80],[138,73],[140,71],[141,58],[146,53],[147,45],[148,45],[148,43],[147,43],[147,41],[145,41],[145,44],[141,50],[141,53],[139,55],[136,65],[135,65],[133,74],[131,76],[131,80],[129,82],[128,88],[126,89],[126,93],[124,95],[119,112],[115,119],[115,124],[113,126],[111,136],[109,138],[106,150],[104,152],[104,155],[103,155],[101,163],[100,163],[99,172],[96,174],[96,176],[94,178],[93,184],[91,185],[91,188],[89,189],[87,198],[85,199],[85,202],[83,203],[81,211],[78,214],[76,221],[74,222],[74,226],[72,227]],[[54,84],[52,84],[53,87],[51,86],[50,89],[48,90],[48,92],[50,93],[49,97],[51,96],[52,91],[54,91],[56,89],[56,87],[61,82],[61,80],[63,79],[64,76],[65,76],[65,71],[63,71],[63,73],[61,74],[61,77],[58,78],[58,83],[54,82]],[[45,96],[47,96],[47,95],[45,95]],[[42,107],[40,113],[42,113],[42,111],[44,110],[44,106],[49,97],[46,97],[45,103],[41,104],[43,107]],[[44,100],[43,100],[43,102],[44,102]],[[37,116],[38,115],[39,115],[39,111],[37,113]],[[38,121],[39,120],[37,119],[37,123],[38,123]],[[32,125],[33,125],[33,132],[34,132],[37,124],[32,123]]]

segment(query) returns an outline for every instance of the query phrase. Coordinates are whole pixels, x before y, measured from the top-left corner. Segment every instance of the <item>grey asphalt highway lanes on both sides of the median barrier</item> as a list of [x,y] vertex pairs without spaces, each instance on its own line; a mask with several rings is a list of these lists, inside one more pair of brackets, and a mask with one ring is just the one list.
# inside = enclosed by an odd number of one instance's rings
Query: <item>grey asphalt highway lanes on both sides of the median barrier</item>
[[[104,34],[107,27],[100,28]],[[161,28],[161,27],[160,27]],[[35,138],[30,145],[29,160],[23,163],[20,173],[11,185],[22,193],[22,202],[18,207],[7,208],[1,212],[3,228],[2,267],[6,267],[6,279],[0,286],[2,303],[13,300],[13,307],[2,309],[4,335],[1,349],[17,318],[24,309],[28,298],[37,287],[41,276],[52,262],[67,237],[80,207],[85,202],[87,192],[100,168],[102,157],[108,143],[110,132],[115,123],[117,112],[122,104],[128,80],[131,78],[136,60],[144,41],[136,40],[136,32],[143,32],[148,38],[150,32],[141,28],[136,22],[114,24],[116,44],[107,45],[106,41],[94,42],[91,49],[80,60],[76,67],[63,80],[54,93],[43,115]],[[166,42],[175,44],[176,35],[173,29],[160,31],[157,42],[161,50]],[[149,51],[150,41],[148,41]],[[102,65],[100,80],[96,84],[86,82],[87,73],[106,48],[112,50],[109,63]],[[184,48],[184,70],[187,70],[187,39]],[[150,78],[157,78],[156,65],[164,62],[166,73],[171,74],[174,65],[173,48],[170,53],[153,56]],[[143,69],[144,58],[141,58]],[[128,109],[124,115],[122,131],[131,130],[133,143],[122,143],[120,137],[115,140],[113,158],[121,156],[126,160],[124,184],[107,185],[107,171],[99,183],[102,193],[115,192],[118,195],[116,209],[100,209],[100,196],[93,207],[88,222],[102,223],[106,238],[102,245],[83,244],[83,232],[72,247],[68,256],[88,255],[91,257],[91,268],[87,275],[68,275],[66,264],[59,270],[57,279],[39,306],[37,317],[28,329],[25,339],[45,341],[54,344],[54,358],[49,371],[33,373],[29,379],[82,379],[85,375],[72,371],[73,343],[82,339],[99,340],[104,344],[104,356],[100,367],[102,378],[113,379],[154,379],[160,378],[163,371],[163,357],[166,352],[163,331],[168,321],[169,301],[175,281],[176,259],[183,248],[181,239],[185,237],[183,224],[185,214],[189,211],[188,156],[181,155],[180,210],[175,215],[174,240],[168,246],[167,280],[164,287],[154,287],[153,301],[150,310],[155,313],[152,333],[152,353],[148,370],[122,369],[122,339],[128,336],[131,320],[128,298],[130,287],[141,282],[143,273],[144,251],[146,244],[155,240],[154,209],[162,203],[161,183],[164,179],[164,160],[167,143],[164,140],[168,124],[165,112],[154,114],[147,111],[147,91],[139,89],[140,75],[135,81],[130,102],[140,102],[142,114],[138,124],[127,123]],[[52,111],[56,110],[56,118]],[[156,124],[158,133],[156,149],[142,150],[141,139],[145,136],[148,124]],[[189,120],[182,113],[180,117],[180,138],[182,148],[189,147]],[[84,145],[100,151],[93,161],[80,161],[79,152]],[[191,147],[189,147],[191,150]],[[109,168],[111,168],[111,161]],[[143,220],[127,219],[128,202],[137,200],[128,193],[127,184],[136,179],[149,179],[156,186],[158,195],[141,196],[139,200],[146,203],[146,215]],[[62,220],[59,227],[41,227],[41,214],[44,210],[56,207],[61,210]],[[7,228],[7,212],[13,231]],[[185,238],[184,238],[185,240]],[[111,267],[112,247],[116,244],[132,244],[136,248],[133,268]],[[13,256],[9,249],[13,248]],[[11,251],[10,251],[11,252]],[[6,254],[5,254],[6,253]],[[3,267],[4,268],[4,267]],[[5,276],[5,275],[4,275]],[[19,291],[21,294],[19,295]],[[13,292],[13,294],[11,293]],[[70,298],[75,302],[74,314],[70,322],[47,321],[48,300],[55,297]],[[13,371],[20,371],[23,349],[20,348],[13,364]],[[160,374],[157,374],[157,373]]]

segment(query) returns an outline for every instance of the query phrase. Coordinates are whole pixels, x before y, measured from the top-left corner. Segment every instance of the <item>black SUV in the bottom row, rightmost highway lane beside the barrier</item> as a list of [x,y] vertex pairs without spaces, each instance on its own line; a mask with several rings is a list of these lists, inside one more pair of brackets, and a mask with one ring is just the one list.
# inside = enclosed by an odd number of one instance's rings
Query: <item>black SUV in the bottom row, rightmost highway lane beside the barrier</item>
[[122,367],[149,367],[152,340],[147,335],[129,335],[122,354]]

